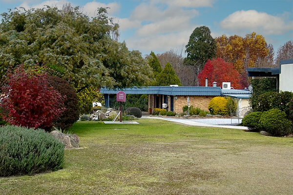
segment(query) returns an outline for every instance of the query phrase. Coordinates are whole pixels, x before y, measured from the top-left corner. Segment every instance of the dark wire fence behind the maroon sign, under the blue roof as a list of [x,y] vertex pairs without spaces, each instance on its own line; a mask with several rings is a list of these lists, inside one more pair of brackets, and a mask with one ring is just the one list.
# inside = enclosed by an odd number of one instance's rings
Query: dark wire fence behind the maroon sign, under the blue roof
[[[122,102],[122,110],[125,111],[129,107],[137,107],[141,109],[141,111],[147,111],[147,104],[147,99],[126,98],[126,102]],[[120,102],[117,102],[116,98],[110,98],[109,108],[115,108],[116,110],[120,110]]]

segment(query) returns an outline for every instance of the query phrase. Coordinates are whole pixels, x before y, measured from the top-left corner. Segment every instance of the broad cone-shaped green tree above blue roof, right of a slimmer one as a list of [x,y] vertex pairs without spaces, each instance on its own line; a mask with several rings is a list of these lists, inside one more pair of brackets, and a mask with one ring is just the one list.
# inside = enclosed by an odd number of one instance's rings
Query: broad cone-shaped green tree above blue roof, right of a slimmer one
[[167,63],[165,68],[157,75],[156,82],[158,86],[179,85],[179,78],[176,76],[170,63]]

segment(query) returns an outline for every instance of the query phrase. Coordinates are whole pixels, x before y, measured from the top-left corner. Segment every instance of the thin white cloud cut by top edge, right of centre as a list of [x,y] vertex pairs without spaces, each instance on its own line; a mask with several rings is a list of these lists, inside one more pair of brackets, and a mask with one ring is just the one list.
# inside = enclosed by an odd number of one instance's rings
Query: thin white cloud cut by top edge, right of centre
[[152,0],[152,3],[166,3],[175,7],[211,7],[214,0]]

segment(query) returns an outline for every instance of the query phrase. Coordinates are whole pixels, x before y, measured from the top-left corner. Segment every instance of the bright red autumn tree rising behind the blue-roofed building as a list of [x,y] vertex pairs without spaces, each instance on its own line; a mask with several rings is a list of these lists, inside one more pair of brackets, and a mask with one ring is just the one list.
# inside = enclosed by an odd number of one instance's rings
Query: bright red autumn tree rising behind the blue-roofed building
[[222,86],[222,82],[231,82],[231,87],[240,89],[240,75],[238,71],[232,63],[225,62],[221,58],[207,61],[198,75],[201,86],[205,86],[206,78],[208,78],[208,86],[212,86],[214,81],[218,83],[218,86]]

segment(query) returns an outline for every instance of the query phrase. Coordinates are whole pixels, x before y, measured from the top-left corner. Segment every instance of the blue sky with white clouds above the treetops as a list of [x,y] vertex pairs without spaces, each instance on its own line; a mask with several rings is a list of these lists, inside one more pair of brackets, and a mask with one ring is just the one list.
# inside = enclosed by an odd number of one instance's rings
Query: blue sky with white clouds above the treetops
[[16,7],[62,8],[68,2],[89,17],[98,7],[109,7],[109,16],[120,25],[119,41],[143,55],[184,52],[199,26],[208,26],[213,38],[256,32],[275,52],[293,40],[293,0],[0,0],[0,13]]

